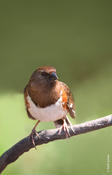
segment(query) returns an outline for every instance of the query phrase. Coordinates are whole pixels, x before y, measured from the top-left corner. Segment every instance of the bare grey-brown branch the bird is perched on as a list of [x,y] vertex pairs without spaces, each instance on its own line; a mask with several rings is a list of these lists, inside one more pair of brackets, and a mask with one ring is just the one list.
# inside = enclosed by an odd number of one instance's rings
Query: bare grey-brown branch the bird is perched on
[[[70,137],[105,128],[108,126],[112,126],[112,115],[108,115],[106,117],[85,122],[82,124],[73,125],[72,130],[69,127]],[[59,128],[39,131],[38,134],[40,137],[37,137],[36,135],[34,136],[35,145],[42,145],[54,140],[66,139],[64,131],[59,134]],[[30,135],[12,146],[0,157],[0,173],[5,169],[8,164],[16,161],[19,156],[21,156],[24,152],[28,152],[33,147],[34,145],[32,144]]]

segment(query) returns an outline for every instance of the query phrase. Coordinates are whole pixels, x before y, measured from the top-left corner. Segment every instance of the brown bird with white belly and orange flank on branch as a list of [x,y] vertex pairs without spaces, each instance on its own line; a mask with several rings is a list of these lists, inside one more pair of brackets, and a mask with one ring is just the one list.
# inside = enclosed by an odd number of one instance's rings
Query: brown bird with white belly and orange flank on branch
[[42,66],[32,73],[24,88],[24,99],[28,117],[37,120],[31,132],[34,146],[33,135],[39,137],[36,127],[40,122],[54,122],[59,133],[64,130],[66,137],[70,135],[68,127],[72,129],[72,124],[67,114],[75,118],[74,98],[70,88],[59,81],[53,66]]

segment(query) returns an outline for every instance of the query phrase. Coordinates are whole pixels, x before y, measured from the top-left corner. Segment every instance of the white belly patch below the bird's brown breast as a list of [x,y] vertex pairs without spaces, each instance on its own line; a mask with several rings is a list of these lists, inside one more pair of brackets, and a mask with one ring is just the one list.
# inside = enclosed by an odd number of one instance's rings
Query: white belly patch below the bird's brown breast
[[56,121],[63,118],[67,114],[67,111],[62,107],[62,97],[59,98],[55,104],[44,108],[37,107],[29,95],[27,96],[27,101],[30,106],[28,111],[33,116],[33,118],[40,121]]

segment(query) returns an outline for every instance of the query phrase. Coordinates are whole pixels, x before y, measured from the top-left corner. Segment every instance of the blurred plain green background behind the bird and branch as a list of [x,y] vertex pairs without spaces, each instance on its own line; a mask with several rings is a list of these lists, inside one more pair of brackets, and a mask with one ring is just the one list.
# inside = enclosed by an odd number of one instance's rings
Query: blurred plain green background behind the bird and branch
[[[23,89],[39,66],[56,67],[71,87],[77,113],[72,123],[112,112],[110,0],[1,0],[0,18],[0,154],[35,124],[27,117]],[[41,123],[37,130],[53,127]],[[111,148],[110,127],[32,149],[3,175],[110,175]]]

